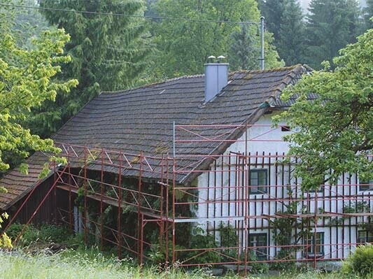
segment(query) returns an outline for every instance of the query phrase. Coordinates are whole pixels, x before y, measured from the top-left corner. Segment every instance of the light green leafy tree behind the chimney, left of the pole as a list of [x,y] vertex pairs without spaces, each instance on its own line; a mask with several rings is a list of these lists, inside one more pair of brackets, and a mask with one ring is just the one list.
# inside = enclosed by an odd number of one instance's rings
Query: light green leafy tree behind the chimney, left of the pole
[[[156,3],[157,13],[163,17],[182,17],[192,20],[220,20],[237,22],[259,22],[259,10],[255,0],[230,1],[222,0],[159,0]],[[260,37],[256,36],[258,27],[245,27],[246,38],[251,38],[253,48],[260,48]],[[194,22],[162,20],[153,22],[155,43],[160,53],[155,57],[157,78],[202,73],[204,63],[210,55],[225,55],[230,52],[232,33],[242,31],[239,24],[224,22]],[[247,43],[247,42],[246,42]],[[253,48],[248,50],[250,52]],[[277,53],[272,45],[266,43],[268,58],[273,59]],[[274,53],[275,52],[275,53]],[[251,56],[248,54],[248,56]],[[259,57],[258,57],[259,58]],[[258,59],[257,58],[257,59]],[[278,58],[278,57],[277,57]],[[267,62],[267,61],[266,61]],[[271,64],[272,63],[272,64]],[[257,68],[259,61],[257,61]],[[279,66],[276,59],[269,61],[267,66]],[[232,67],[231,67],[232,69]]]

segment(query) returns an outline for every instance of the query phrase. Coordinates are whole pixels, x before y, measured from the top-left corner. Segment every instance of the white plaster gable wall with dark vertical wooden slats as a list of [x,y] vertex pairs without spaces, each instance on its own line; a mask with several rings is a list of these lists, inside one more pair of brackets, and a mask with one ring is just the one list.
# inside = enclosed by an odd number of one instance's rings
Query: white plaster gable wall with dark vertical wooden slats
[[[246,133],[233,143],[226,150],[224,155],[230,155],[231,152],[248,153],[251,155],[283,155],[288,152],[288,143],[282,141],[282,137],[291,131],[281,131],[281,127],[272,127],[272,116],[264,115],[249,127]],[[246,145],[245,141],[248,140]],[[222,162],[223,160],[223,162]],[[197,178],[197,187],[199,189],[199,206],[195,209],[195,215],[201,220],[199,227],[206,231],[217,228],[220,223],[230,224],[237,227],[240,231],[240,239],[243,245],[246,245],[246,234],[267,233],[269,246],[274,246],[272,231],[269,229],[269,222],[262,218],[263,215],[274,216],[279,210],[283,210],[283,203],[279,201],[268,201],[269,199],[287,199],[288,191],[286,186],[290,186],[296,198],[309,199],[302,201],[298,205],[298,210],[302,206],[307,206],[309,213],[343,213],[346,205],[352,205],[356,201],[368,201],[372,199],[370,192],[358,192],[358,179],[356,175],[346,174],[340,178],[339,185],[323,186],[323,192],[303,192],[300,188],[301,181],[296,180],[290,170],[290,166],[277,167],[269,164],[268,157],[251,158],[250,165],[235,164],[242,163],[239,157],[231,157],[230,162],[227,159],[217,159],[216,163],[211,165],[211,172],[204,172]],[[241,161],[240,161],[241,160]],[[255,165],[255,162],[258,164]],[[271,162],[274,162],[272,157]],[[230,163],[230,164],[229,164]],[[245,187],[248,181],[248,169],[267,169],[268,184],[277,185],[269,187],[266,194],[246,193]],[[238,178],[239,176],[239,178]],[[351,186],[352,185],[352,186]],[[357,194],[365,196],[356,196]],[[351,199],[351,200],[348,200]],[[239,202],[237,202],[239,200]],[[373,208],[372,208],[373,210]],[[248,222],[244,222],[244,216],[248,216]],[[337,215],[335,215],[337,217]],[[235,219],[235,217],[238,217]],[[209,222],[206,222],[209,218]],[[241,220],[239,220],[241,218]],[[339,217],[340,218],[340,217]],[[215,221],[214,221],[215,220]],[[336,259],[347,257],[349,251],[356,243],[358,227],[357,222],[366,222],[367,217],[351,217],[344,220],[344,226],[330,226],[330,218],[319,218],[317,220],[316,231],[324,232],[325,259]],[[340,221],[341,222],[341,221]],[[218,233],[216,233],[218,238]],[[301,244],[301,243],[300,243]],[[276,248],[269,248],[269,254],[273,257]],[[277,249],[279,251],[279,249]],[[297,257],[302,258],[302,252],[297,252]]]

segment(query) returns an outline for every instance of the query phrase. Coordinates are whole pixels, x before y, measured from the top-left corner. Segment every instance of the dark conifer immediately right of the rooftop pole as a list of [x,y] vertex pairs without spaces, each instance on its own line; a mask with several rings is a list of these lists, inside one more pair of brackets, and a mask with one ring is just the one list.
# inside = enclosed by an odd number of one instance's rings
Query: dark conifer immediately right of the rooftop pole
[[260,11],[286,65],[304,62],[304,20],[300,3],[297,0],[262,0]]

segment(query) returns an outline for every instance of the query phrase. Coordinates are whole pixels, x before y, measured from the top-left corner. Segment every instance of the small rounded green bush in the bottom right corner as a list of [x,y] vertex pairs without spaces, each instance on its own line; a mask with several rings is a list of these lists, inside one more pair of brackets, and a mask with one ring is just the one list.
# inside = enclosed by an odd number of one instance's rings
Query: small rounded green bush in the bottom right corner
[[373,276],[373,245],[360,245],[342,266],[342,272],[367,278]]

